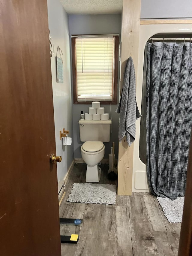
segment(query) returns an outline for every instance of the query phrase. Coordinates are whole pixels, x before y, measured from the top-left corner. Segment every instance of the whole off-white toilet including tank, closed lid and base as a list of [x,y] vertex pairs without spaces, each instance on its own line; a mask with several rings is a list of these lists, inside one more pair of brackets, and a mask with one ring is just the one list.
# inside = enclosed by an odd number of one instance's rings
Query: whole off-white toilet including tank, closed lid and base
[[103,142],[110,141],[111,120],[79,120],[82,159],[87,164],[86,182],[99,182],[101,168],[98,163],[104,158]]

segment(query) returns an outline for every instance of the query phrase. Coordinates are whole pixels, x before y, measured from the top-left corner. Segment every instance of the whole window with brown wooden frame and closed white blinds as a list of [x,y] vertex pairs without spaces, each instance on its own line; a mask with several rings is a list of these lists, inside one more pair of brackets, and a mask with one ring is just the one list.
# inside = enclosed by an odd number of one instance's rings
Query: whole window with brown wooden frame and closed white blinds
[[72,36],[73,102],[117,104],[119,37]]

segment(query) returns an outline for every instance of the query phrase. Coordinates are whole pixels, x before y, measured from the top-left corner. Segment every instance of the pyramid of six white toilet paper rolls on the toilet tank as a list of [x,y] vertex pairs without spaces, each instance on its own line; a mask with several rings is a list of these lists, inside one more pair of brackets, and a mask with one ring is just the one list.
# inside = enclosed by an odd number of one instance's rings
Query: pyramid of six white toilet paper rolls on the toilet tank
[[85,113],[85,120],[109,120],[109,114],[105,113],[104,107],[100,107],[100,101],[93,101],[89,113]]

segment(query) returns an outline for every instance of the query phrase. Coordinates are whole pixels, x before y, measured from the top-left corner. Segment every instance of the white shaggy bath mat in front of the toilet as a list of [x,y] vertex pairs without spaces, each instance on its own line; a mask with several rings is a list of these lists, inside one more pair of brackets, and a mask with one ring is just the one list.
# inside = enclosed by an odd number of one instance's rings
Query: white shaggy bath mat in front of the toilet
[[74,183],[67,202],[115,204],[116,185]]

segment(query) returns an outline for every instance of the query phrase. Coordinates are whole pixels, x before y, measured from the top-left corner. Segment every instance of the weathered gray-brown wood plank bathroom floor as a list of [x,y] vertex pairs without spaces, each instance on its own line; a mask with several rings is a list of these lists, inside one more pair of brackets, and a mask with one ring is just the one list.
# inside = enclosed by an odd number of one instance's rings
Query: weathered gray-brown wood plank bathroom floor
[[[116,184],[107,179],[102,165],[99,183]],[[66,202],[73,183],[85,183],[86,165],[75,164],[60,205],[60,218],[81,218],[77,244],[61,244],[62,256],[176,256],[181,224],[165,218],[157,198],[149,193],[117,196],[116,205]]]

